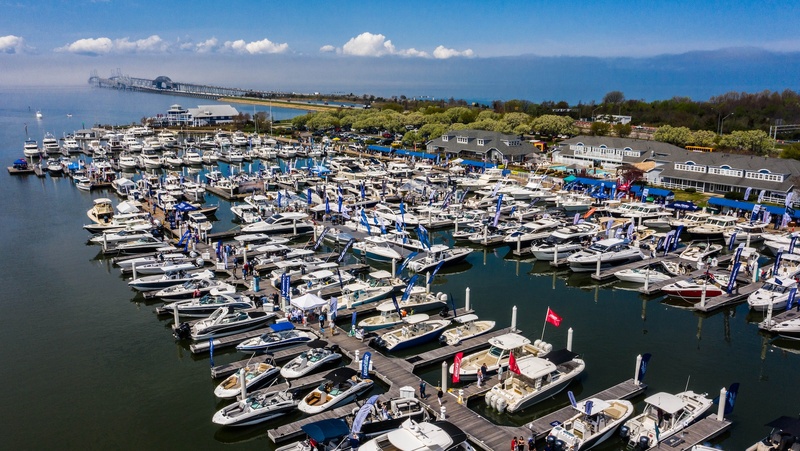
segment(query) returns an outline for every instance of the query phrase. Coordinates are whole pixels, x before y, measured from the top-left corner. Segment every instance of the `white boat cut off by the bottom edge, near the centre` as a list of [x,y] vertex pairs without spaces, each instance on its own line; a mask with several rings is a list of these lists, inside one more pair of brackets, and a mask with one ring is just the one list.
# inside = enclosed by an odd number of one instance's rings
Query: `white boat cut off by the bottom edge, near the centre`
[[402,427],[381,434],[359,446],[359,451],[473,451],[467,434],[448,421],[417,423],[411,419]]

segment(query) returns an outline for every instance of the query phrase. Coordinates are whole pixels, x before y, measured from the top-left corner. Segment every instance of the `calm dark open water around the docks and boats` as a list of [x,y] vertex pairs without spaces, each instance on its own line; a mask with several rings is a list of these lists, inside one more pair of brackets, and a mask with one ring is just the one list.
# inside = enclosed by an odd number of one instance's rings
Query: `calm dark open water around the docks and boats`
[[[45,131],[60,137],[82,123],[138,122],[173,103],[205,101],[88,87],[0,90],[0,159],[10,165],[22,155],[26,123],[41,141]],[[34,117],[37,109],[42,121]],[[0,186],[5,257],[0,383],[7,387],[0,422],[9,449],[186,449],[222,443],[272,448],[268,426],[224,431],[211,423],[222,404],[212,393],[208,358],[177,345],[168,320],[153,314],[155,304],[135,296],[98,248],[85,244],[85,212],[92,198],[107,193],[81,192],[68,179],[11,177],[5,171]],[[229,227],[229,218],[220,214],[218,230]],[[651,352],[650,394],[681,391],[687,379],[691,389],[713,395],[741,383],[734,428],[719,441],[727,450],[744,449],[763,436],[762,425],[774,417],[797,413],[800,356],[769,344],[746,305],[699,316],[507,253],[507,248],[475,252],[466,264],[443,271],[434,289],[463,304],[469,286],[478,314],[503,327],[516,305],[518,326],[532,339],[542,334],[548,306],[560,314],[564,322],[559,328],[548,325],[545,340],[563,346],[567,329],[574,329],[574,350],[588,365],[582,381],[572,386],[579,399],[632,377],[636,355]],[[217,355],[215,363],[238,357]],[[424,377],[435,385],[440,373],[436,366]],[[488,415],[522,424],[566,403],[562,395],[522,415]],[[475,408],[482,410],[480,404]]]

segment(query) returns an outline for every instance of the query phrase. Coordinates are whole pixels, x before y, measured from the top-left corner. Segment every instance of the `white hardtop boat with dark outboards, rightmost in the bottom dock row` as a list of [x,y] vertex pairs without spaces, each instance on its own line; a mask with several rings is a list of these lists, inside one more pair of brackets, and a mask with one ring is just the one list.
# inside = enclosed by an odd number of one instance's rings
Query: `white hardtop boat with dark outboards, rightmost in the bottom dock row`
[[713,404],[704,393],[691,390],[674,395],[656,393],[645,398],[644,402],[644,411],[626,421],[620,429],[629,449],[645,450],[659,446],[700,419]]

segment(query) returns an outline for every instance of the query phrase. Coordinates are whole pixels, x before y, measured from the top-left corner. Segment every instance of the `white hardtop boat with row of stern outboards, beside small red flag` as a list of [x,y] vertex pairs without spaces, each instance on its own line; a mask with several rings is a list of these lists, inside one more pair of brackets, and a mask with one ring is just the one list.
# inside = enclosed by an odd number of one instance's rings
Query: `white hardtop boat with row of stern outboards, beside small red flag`
[[567,349],[515,359],[519,373],[508,376],[486,393],[486,404],[498,412],[524,410],[559,393],[586,369],[578,354]]

